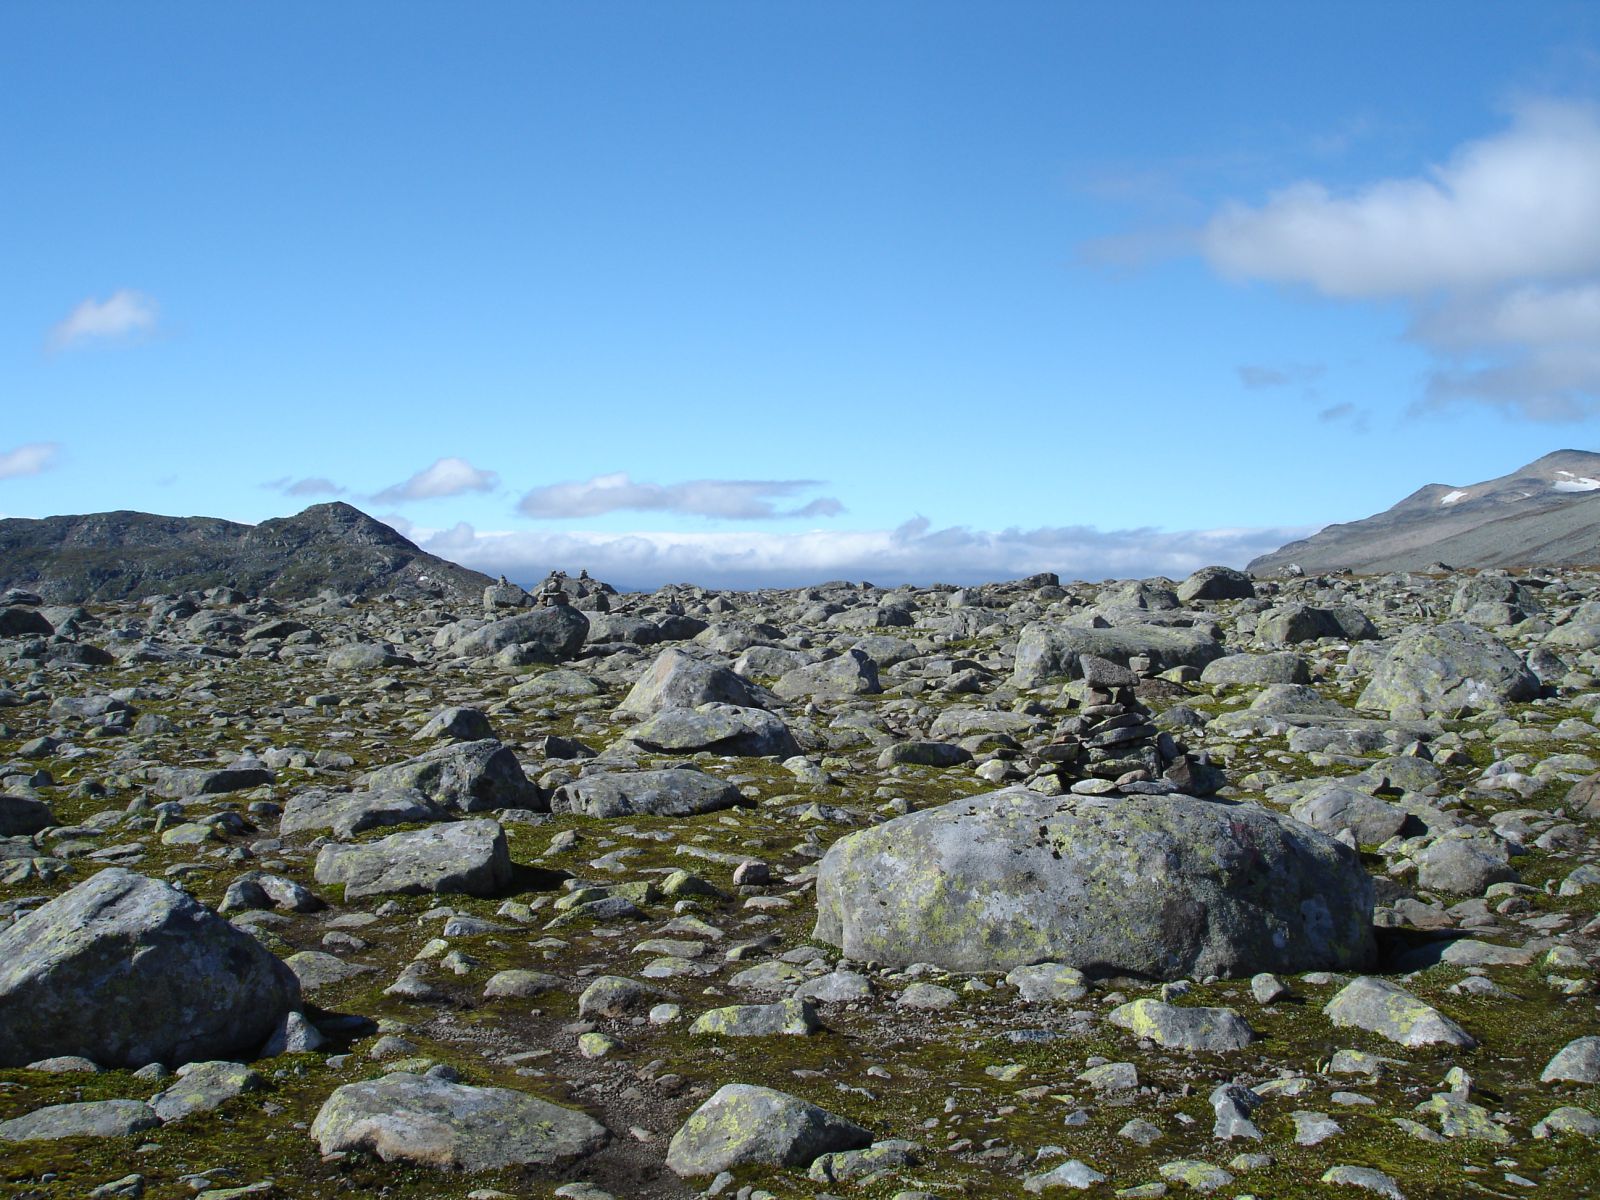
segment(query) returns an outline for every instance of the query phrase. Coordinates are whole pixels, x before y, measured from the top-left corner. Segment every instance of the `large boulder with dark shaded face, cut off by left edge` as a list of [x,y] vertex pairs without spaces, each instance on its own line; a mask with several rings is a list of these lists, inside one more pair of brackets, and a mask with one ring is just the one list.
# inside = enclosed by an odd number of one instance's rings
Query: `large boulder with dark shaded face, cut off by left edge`
[[0,930],[0,1066],[251,1058],[299,982],[192,896],[109,867]]

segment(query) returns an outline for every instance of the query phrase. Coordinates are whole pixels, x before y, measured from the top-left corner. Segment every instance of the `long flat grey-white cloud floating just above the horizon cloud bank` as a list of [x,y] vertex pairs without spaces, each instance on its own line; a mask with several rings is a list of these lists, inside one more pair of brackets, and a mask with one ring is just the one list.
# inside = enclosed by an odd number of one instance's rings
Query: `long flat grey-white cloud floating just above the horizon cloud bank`
[[832,496],[798,509],[774,501],[822,486],[819,480],[717,480],[635,483],[626,472],[595,475],[581,483],[550,483],[522,498],[523,517],[598,517],[605,512],[683,512],[694,517],[771,520],[776,517],[835,517],[845,510]]

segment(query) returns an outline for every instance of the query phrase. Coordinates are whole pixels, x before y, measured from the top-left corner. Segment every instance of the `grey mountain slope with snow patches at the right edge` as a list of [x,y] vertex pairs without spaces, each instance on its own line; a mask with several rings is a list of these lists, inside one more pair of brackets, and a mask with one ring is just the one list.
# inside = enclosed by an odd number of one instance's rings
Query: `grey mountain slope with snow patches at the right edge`
[[1253,574],[1362,574],[1600,563],[1600,454],[1558,450],[1485,483],[1429,483],[1386,512],[1330,525],[1250,563]]

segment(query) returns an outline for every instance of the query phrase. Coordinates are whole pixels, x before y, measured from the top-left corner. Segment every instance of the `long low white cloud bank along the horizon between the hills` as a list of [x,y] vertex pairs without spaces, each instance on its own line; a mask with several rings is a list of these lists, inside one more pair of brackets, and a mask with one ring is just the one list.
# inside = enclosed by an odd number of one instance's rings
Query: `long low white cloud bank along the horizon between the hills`
[[[531,581],[554,568],[584,568],[619,587],[693,581],[710,587],[797,587],[824,579],[981,582],[1037,571],[1107,579],[1182,578],[1210,563],[1242,566],[1314,533],[1277,530],[1101,531],[1088,526],[984,531],[933,530],[923,518],[896,530],[771,533],[475,533],[456,525],[426,549],[486,574]],[[424,534],[424,531],[419,531]]]

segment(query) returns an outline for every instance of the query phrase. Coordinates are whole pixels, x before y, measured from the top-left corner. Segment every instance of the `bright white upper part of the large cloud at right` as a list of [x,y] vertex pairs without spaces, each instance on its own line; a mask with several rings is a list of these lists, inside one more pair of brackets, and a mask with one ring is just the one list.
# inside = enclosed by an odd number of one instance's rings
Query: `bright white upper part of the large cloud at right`
[[1525,104],[1509,130],[1419,178],[1350,195],[1299,182],[1259,208],[1230,203],[1200,245],[1226,275],[1344,298],[1584,275],[1600,269],[1600,118]]

